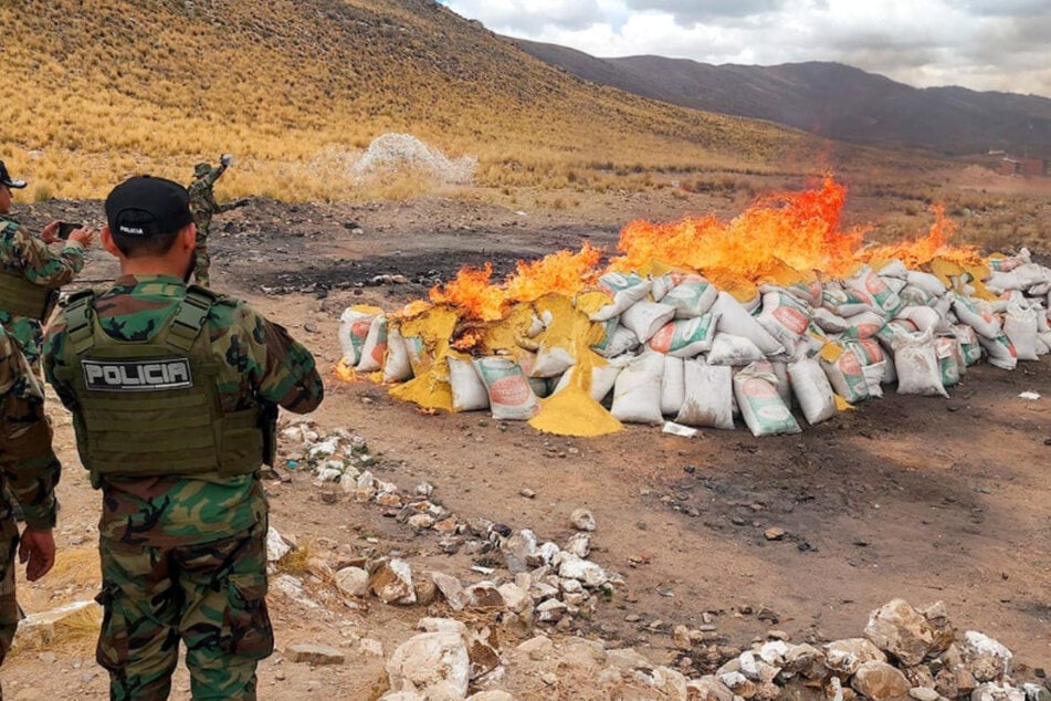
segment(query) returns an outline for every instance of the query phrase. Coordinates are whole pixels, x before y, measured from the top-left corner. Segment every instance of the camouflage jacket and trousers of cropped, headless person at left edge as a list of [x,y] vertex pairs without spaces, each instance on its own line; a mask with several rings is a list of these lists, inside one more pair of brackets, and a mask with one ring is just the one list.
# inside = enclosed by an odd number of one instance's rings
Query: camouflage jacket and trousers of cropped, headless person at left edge
[[[27,524],[46,531],[55,524],[55,484],[61,468],[51,450],[51,425],[44,417],[44,393],[18,344],[0,327],[0,663],[14,639],[21,611],[14,599],[14,554],[19,531],[8,491],[21,502]],[[0,698],[3,698],[0,692]]]

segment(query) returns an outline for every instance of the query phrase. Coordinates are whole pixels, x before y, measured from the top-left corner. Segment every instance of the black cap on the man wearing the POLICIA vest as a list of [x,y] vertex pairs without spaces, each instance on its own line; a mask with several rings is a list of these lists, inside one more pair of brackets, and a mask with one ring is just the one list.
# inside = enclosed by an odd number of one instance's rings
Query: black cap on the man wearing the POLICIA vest
[[193,221],[186,188],[167,178],[135,176],[106,198],[109,231],[127,237],[175,233]]

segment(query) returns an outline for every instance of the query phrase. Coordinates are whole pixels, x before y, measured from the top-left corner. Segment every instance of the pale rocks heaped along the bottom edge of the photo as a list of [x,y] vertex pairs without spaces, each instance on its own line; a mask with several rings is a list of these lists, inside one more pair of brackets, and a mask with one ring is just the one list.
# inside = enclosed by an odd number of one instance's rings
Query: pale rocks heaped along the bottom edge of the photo
[[[514,698],[508,691],[528,693],[537,681],[553,697],[556,690],[586,688],[588,698],[609,699],[1047,701],[1051,695],[1044,684],[1013,680],[1011,652],[998,641],[977,631],[957,636],[940,603],[914,609],[901,599],[890,601],[872,613],[859,638],[810,645],[768,636],[703,676],[662,665],[654,658],[666,657],[652,649],[543,632],[517,642],[477,617],[466,624],[425,618],[418,627],[424,632],[387,661],[390,691],[381,697],[387,701],[508,699]],[[697,638],[680,636],[676,646],[686,652],[692,639]]]

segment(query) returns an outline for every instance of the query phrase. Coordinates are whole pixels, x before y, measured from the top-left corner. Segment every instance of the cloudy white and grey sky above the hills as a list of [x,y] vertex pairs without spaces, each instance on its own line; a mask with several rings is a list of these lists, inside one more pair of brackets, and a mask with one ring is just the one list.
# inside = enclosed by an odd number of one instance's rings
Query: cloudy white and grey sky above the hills
[[838,61],[926,87],[1051,97],[1049,0],[442,0],[501,34],[595,56]]

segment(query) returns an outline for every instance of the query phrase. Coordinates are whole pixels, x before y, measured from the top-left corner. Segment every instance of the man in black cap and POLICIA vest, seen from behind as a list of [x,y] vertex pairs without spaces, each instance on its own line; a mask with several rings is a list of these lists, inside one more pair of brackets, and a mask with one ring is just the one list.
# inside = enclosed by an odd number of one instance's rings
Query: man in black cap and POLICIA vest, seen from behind
[[97,659],[113,699],[165,699],[181,639],[195,699],[255,699],[273,650],[259,469],[277,406],[312,411],[322,379],[284,328],[187,286],[196,231],[181,185],[130,178],[105,210],[122,275],[70,297],[44,355],[103,493]]

